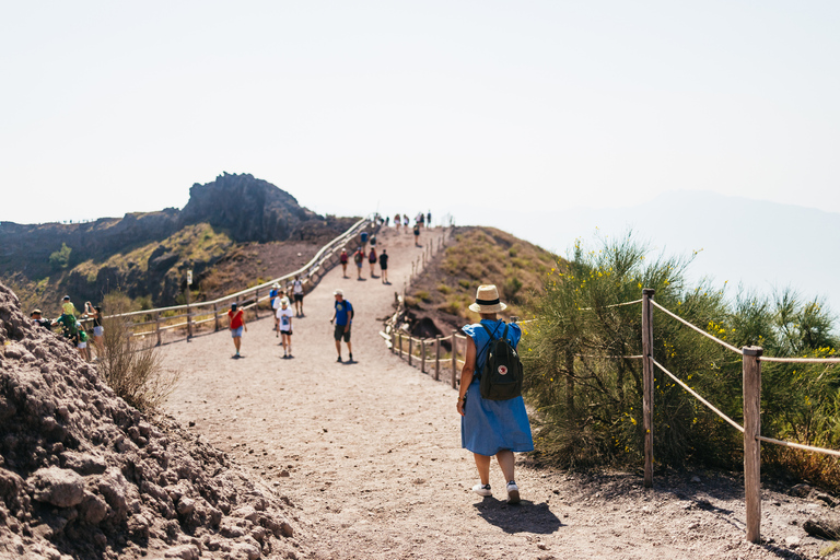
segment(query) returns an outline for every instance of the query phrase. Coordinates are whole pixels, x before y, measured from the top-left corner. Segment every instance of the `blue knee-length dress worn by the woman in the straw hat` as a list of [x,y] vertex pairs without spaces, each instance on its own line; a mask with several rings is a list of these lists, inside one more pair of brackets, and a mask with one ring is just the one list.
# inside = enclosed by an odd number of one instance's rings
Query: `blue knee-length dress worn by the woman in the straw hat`
[[[501,319],[481,319],[498,339],[504,332]],[[490,336],[481,324],[467,325],[464,332],[476,345],[476,370],[480,372],[490,349]],[[522,337],[518,325],[510,324],[508,340],[516,348]],[[467,389],[467,404],[460,417],[460,446],[479,455],[495,455],[500,451],[526,452],[534,450],[528,413],[522,397],[509,400],[488,400],[481,397],[477,372]]]

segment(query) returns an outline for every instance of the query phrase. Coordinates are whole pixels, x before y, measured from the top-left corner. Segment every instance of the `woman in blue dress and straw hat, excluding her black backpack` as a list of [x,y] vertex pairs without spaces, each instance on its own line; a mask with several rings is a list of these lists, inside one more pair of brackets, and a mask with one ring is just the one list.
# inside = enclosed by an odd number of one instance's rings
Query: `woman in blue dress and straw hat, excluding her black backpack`
[[[467,325],[467,355],[460,371],[458,413],[460,413],[460,445],[472,452],[480,482],[472,487],[479,495],[491,495],[490,462],[495,455],[504,475],[508,502],[520,501],[520,488],[514,478],[514,452],[534,450],[530,423],[522,396],[508,400],[489,400],[481,397],[479,372],[485,365],[490,347],[490,335],[485,326],[499,339],[504,334],[505,323],[498,314],[508,306],[499,300],[495,285],[479,285],[476,302],[469,308],[481,315],[481,322]],[[515,323],[508,325],[508,340],[516,348],[522,329]]]

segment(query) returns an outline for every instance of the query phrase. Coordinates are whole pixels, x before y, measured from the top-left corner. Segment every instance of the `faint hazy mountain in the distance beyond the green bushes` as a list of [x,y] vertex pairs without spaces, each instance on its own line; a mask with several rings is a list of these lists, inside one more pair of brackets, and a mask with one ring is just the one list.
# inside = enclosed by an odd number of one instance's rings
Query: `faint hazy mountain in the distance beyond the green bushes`
[[[791,287],[803,298],[822,296],[840,314],[840,214],[705,191],[673,191],[650,202],[617,209],[563,208],[546,202],[534,212],[498,211],[480,217],[510,233],[564,255],[575,238],[592,247],[597,236],[627,235],[649,242],[654,254],[700,253],[688,269],[715,285],[728,281],[762,294]],[[459,223],[478,217],[456,210]]]

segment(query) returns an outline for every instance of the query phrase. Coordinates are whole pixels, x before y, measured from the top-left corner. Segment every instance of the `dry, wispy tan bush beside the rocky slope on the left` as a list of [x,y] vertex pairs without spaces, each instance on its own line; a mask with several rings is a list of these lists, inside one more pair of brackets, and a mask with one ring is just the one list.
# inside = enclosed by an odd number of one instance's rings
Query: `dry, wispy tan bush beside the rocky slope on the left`
[[[130,311],[130,299],[120,293],[105,295],[105,315],[118,315]],[[131,337],[131,323],[126,317],[107,317],[103,320],[103,353],[100,372],[105,383],[129,405],[154,411],[175,388],[179,374],[164,368],[163,355],[151,339]]]

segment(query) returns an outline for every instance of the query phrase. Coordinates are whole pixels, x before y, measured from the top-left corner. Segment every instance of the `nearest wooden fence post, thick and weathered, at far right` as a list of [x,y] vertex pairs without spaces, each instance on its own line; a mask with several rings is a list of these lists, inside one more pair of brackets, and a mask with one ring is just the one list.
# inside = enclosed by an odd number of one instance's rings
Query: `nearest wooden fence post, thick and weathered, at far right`
[[743,348],[744,369],[744,495],[747,502],[747,540],[761,542],[761,362],[763,349]]

